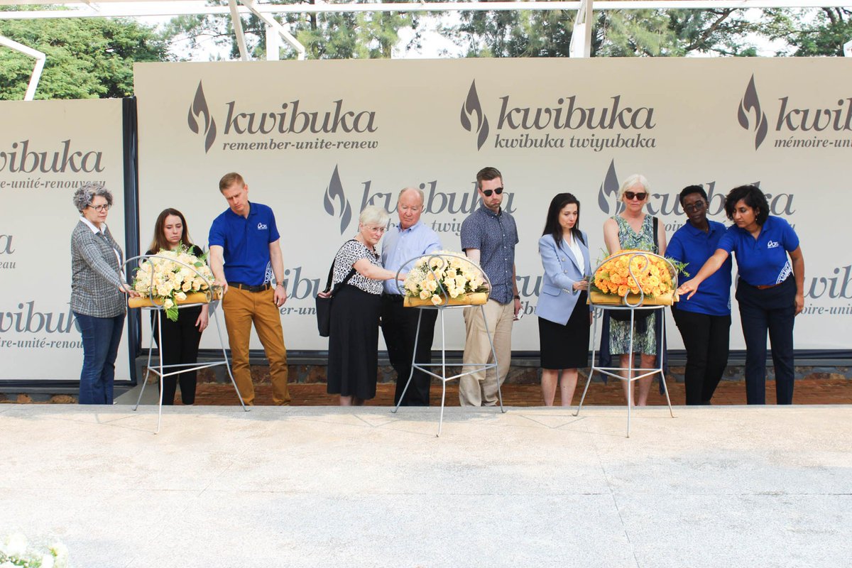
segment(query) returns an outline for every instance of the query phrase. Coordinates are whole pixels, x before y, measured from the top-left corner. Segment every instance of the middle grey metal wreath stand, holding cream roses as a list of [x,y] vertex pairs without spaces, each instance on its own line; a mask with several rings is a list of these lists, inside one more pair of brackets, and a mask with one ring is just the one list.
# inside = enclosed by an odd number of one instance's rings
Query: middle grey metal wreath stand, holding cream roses
[[[408,374],[408,381],[406,382],[406,387],[402,390],[402,394],[400,395],[399,402],[396,403],[394,410],[391,410],[392,413],[395,413],[397,410],[400,410],[400,404],[402,404],[402,400],[406,398],[406,391],[408,390],[409,385],[412,384],[412,377],[414,376],[414,370],[422,370],[429,376],[434,376],[436,379],[439,379],[441,382],[441,393],[440,393],[440,418],[438,419],[438,433],[435,434],[435,438],[440,437],[440,429],[444,423],[444,401],[446,399],[446,382],[452,381],[454,379],[460,379],[463,376],[473,375],[481,370],[488,371],[489,369],[493,369],[494,373],[498,376],[497,381],[497,396],[500,401],[500,412],[505,412],[506,410],[503,407],[503,393],[500,392],[500,380],[498,373],[498,364],[497,364],[497,352],[494,350],[494,341],[491,336],[491,331],[488,330],[488,322],[485,317],[485,308],[482,305],[479,306],[482,313],[482,321],[485,322],[485,331],[488,336],[488,344],[491,346],[491,355],[493,359],[493,363],[464,363],[463,367],[473,367],[474,370],[469,370],[467,372],[459,373],[458,375],[446,376],[446,331],[444,329],[444,311],[448,309],[458,308],[458,307],[476,307],[470,304],[450,304],[450,295],[446,292],[444,287],[440,284],[440,280],[435,274],[435,269],[432,267],[432,260],[435,259],[438,261],[437,268],[443,269],[447,263],[446,258],[453,257],[459,258],[463,261],[467,262],[471,267],[475,267],[479,273],[482,274],[482,278],[485,280],[485,283],[488,287],[488,290],[491,290],[491,280],[488,278],[488,275],[482,270],[481,267],[477,266],[474,261],[471,261],[467,256],[463,255],[453,255],[453,254],[437,254],[432,253],[429,255],[419,255],[414,258],[406,261],[402,264],[399,270],[396,271],[396,281],[400,281],[400,273],[404,267],[407,267],[412,262],[417,262],[422,258],[428,259],[426,261],[426,267],[429,268],[429,272],[435,276],[435,282],[438,283],[438,290],[435,290],[436,294],[439,294],[443,301],[438,305],[428,305],[428,306],[416,306],[417,309],[420,310],[420,313],[417,314],[417,332],[414,336],[414,353],[412,353],[412,371]],[[440,363],[417,363],[415,362],[415,357],[417,356],[417,341],[420,337],[420,323],[423,321],[423,310],[438,310],[440,315]],[[429,370],[429,367],[440,367],[440,375]]]

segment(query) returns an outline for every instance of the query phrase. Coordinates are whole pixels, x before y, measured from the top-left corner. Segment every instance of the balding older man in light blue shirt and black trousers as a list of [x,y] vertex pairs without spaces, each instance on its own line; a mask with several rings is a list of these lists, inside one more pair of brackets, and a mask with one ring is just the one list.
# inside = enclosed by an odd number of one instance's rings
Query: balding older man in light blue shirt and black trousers
[[[440,250],[438,234],[420,221],[423,213],[423,190],[406,187],[400,192],[396,211],[400,224],[391,228],[382,244],[382,266],[391,271],[411,269],[413,258]],[[382,294],[382,333],[388,346],[388,358],[396,371],[394,404],[402,406],[429,406],[429,375],[415,370],[412,375],[412,357],[418,364],[432,362],[432,339],[435,335],[436,310],[419,310],[403,306],[403,291],[396,280],[385,280]],[[422,314],[420,313],[422,312]],[[417,318],[421,317],[417,333]],[[414,344],[417,341],[417,353]],[[408,377],[412,384],[400,402]]]

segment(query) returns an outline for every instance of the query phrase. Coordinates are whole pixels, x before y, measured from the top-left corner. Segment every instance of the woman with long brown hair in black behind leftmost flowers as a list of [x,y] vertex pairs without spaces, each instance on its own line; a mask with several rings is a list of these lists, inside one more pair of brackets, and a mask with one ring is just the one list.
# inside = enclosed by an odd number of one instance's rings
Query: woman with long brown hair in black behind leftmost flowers
[[[201,249],[189,240],[187,221],[183,214],[177,209],[164,209],[157,217],[154,224],[154,238],[147,255],[156,255],[160,250],[176,250],[183,244],[190,254],[200,256]],[[159,344],[159,333],[157,329],[157,317],[151,313],[151,332],[157,347],[163,353],[163,364],[194,364],[199,359],[199,342],[201,332],[210,322],[208,307],[197,306],[181,308],[178,312],[177,321],[169,318],[159,318],[163,323],[163,345]],[[164,372],[169,373],[176,368],[166,368]],[[180,375],[167,376],[161,380],[163,388],[163,404],[175,404],[175,391],[177,388],[177,377],[181,382],[181,401],[183,404],[195,402],[195,385],[197,373],[187,370]]]

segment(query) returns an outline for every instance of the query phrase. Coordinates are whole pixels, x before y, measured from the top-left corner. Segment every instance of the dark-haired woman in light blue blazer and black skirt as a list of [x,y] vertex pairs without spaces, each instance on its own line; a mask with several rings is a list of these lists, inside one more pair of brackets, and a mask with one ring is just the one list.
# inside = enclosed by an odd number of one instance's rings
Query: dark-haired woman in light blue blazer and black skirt
[[544,278],[538,294],[538,338],[541,344],[541,393],[552,406],[560,382],[561,404],[570,406],[577,387],[577,368],[589,363],[589,238],[580,231],[580,202],[559,193],[550,202],[538,254]]

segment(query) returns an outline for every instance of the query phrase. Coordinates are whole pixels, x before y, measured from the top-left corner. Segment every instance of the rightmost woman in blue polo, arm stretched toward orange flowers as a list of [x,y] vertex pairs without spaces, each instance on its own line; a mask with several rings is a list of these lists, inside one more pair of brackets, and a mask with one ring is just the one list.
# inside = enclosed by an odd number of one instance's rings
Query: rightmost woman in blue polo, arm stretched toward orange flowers
[[746,401],[766,403],[766,336],[772,342],[775,398],[793,400],[793,321],[804,307],[804,256],[790,223],[769,215],[766,196],[756,186],[734,187],[725,198],[734,227],[699,273],[677,289],[692,298],[732,252],[739,273],[736,298],[746,339]]

